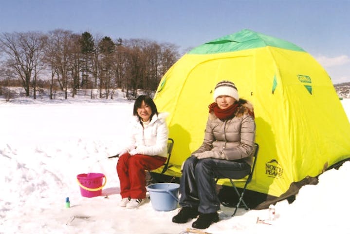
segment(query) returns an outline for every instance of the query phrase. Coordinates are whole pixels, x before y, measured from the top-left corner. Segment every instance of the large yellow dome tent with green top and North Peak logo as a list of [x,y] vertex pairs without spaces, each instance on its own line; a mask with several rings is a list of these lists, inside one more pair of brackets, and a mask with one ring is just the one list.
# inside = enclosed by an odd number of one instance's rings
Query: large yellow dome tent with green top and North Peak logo
[[302,48],[242,30],[198,46],[162,78],[155,95],[175,140],[169,176],[203,141],[213,88],[223,79],[254,105],[260,145],[248,190],[272,196],[350,157],[350,123],[331,78]]

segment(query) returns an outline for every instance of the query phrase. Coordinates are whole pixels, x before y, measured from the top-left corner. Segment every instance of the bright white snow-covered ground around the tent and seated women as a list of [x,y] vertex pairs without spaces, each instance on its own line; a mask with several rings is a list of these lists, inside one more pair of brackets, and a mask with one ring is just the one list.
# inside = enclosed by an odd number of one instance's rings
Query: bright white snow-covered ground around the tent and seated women
[[[350,119],[350,99],[341,101]],[[117,158],[133,101],[0,99],[0,234],[179,234],[192,222],[171,222],[177,210],[117,206]],[[350,143],[350,142],[349,142]],[[103,173],[102,196],[80,195],[76,176]],[[292,204],[276,204],[276,220],[268,210],[222,207],[221,221],[204,230],[211,234],[342,233],[350,234],[350,161],[319,176],[317,185],[301,188]],[[108,195],[108,198],[105,198]],[[65,207],[66,197],[71,208]]]

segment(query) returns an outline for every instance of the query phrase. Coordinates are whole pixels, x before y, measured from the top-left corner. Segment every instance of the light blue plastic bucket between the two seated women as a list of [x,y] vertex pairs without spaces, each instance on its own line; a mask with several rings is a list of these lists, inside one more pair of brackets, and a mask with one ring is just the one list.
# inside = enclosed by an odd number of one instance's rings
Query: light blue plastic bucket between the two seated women
[[179,202],[180,184],[157,183],[147,186],[151,204],[156,211],[172,211]]

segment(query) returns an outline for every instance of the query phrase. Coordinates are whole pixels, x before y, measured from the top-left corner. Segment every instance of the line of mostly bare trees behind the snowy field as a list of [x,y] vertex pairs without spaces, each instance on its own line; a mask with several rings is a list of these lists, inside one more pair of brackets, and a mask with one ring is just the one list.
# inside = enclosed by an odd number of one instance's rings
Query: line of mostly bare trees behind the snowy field
[[[56,29],[49,33],[0,34],[1,86],[22,86],[25,96],[56,90],[72,96],[78,89],[97,89],[99,98],[112,98],[120,88],[127,98],[142,89],[157,89],[166,71],[179,59],[179,47],[148,39],[112,40]],[[1,94],[0,94],[1,95]]]

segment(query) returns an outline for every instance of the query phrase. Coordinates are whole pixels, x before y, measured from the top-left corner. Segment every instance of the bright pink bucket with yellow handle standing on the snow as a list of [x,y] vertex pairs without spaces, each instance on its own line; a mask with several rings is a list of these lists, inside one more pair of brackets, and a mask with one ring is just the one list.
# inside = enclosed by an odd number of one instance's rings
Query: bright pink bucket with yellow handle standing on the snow
[[[105,182],[102,184],[103,178]],[[107,182],[106,176],[102,173],[79,174],[76,180],[80,186],[81,195],[86,197],[100,196]]]

